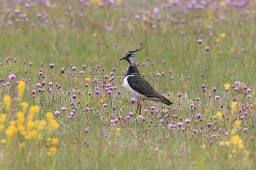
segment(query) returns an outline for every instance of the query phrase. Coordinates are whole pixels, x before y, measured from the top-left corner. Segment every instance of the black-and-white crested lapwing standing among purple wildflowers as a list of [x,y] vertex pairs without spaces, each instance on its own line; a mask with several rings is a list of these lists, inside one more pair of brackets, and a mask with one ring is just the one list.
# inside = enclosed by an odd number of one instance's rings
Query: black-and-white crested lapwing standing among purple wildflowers
[[137,51],[140,51],[145,47],[146,46],[143,46],[142,48],[134,51],[127,51],[124,53],[124,57],[120,59],[128,61],[128,68],[124,76],[124,86],[137,101],[135,115],[137,114],[139,108],[141,112],[141,99],[159,101],[168,106],[173,104],[170,100],[159,94],[159,92],[155,91],[148,81],[140,75],[140,71],[136,65],[135,55]]

